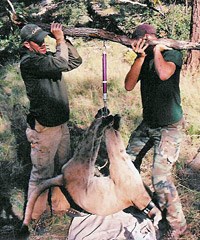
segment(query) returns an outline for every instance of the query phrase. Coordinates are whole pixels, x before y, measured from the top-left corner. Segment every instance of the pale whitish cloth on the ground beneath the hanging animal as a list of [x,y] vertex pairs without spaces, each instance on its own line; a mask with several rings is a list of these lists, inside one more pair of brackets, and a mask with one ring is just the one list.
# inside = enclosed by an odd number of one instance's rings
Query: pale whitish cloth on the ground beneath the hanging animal
[[67,240],[156,240],[152,222],[131,209],[106,217],[89,214],[75,217]]

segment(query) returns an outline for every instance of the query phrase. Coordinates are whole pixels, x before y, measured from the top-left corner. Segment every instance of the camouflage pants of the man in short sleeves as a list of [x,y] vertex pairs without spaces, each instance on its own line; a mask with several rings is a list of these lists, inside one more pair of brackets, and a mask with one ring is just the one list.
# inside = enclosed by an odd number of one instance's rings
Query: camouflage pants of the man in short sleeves
[[165,127],[150,128],[144,121],[132,133],[127,153],[136,165],[153,147],[152,183],[161,210],[166,210],[166,218],[177,229],[186,224],[182,205],[173,183],[171,170],[177,161],[183,138],[184,120]]

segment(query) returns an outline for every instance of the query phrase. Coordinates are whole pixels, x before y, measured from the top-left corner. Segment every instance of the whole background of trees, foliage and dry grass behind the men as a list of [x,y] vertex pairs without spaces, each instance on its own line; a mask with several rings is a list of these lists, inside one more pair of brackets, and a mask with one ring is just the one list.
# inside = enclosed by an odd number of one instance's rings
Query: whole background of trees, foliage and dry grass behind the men
[[[55,21],[64,27],[98,28],[131,38],[135,27],[146,22],[157,28],[159,37],[200,42],[199,9],[199,0],[3,0],[0,6],[0,239],[8,239],[13,226],[22,219],[31,168],[30,149],[25,137],[29,102],[19,71],[19,32],[23,24],[50,25]],[[125,75],[135,57],[133,52],[111,41],[90,37],[71,40],[83,58],[78,69],[65,74],[74,147],[78,139],[75,135],[82,133],[80,129],[87,128],[97,110],[103,107],[104,50],[108,61],[108,107],[113,114],[121,115],[120,131],[127,144],[131,131],[141,121],[142,113],[139,84],[132,92],[124,89]],[[198,240],[199,172],[191,169],[189,163],[200,147],[200,51],[182,52],[185,64],[181,73],[181,96],[187,126],[174,178],[189,224],[189,230],[182,239]],[[151,156],[150,151],[143,161],[141,173],[149,185]],[[47,221],[49,231],[40,238],[32,232],[31,239],[65,239],[69,222],[66,216],[51,218],[50,222]]]

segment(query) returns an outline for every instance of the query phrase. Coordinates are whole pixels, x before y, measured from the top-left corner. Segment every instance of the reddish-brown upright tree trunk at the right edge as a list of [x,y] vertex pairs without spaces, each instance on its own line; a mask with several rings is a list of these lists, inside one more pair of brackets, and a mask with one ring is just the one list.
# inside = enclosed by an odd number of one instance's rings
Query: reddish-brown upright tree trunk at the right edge
[[[191,41],[200,42],[200,1],[194,0],[192,6],[192,19],[191,19]],[[187,57],[187,70],[191,73],[200,72],[200,52],[192,50],[188,53]]]

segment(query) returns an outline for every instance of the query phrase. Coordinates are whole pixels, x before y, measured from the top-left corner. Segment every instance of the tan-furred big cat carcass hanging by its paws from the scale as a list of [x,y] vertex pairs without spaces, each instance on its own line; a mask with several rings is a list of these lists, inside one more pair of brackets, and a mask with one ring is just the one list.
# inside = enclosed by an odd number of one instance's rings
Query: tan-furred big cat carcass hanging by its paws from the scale
[[[106,216],[119,212],[129,206],[135,205],[140,210],[144,209],[151,201],[146,192],[141,176],[126,153],[124,143],[119,131],[112,126],[113,118],[108,119],[105,130],[106,148],[110,161],[110,175],[108,177],[94,176],[95,161],[98,155],[100,128],[102,121],[107,119],[96,119],[88,129],[83,142],[77,148],[73,158],[63,166],[62,175],[59,175],[45,187],[50,185],[64,185],[73,200],[81,208],[92,214]],[[38,194],[38,193],[37,193]],[[33,194],[27,204],[24,224],[30,221],[32,204],[37,198]],[[30,203],[31,202],[31,203]],[[155,211],[156,209],[156,211]],[[157,221],[161,219],[160,211],[155,208]]]

